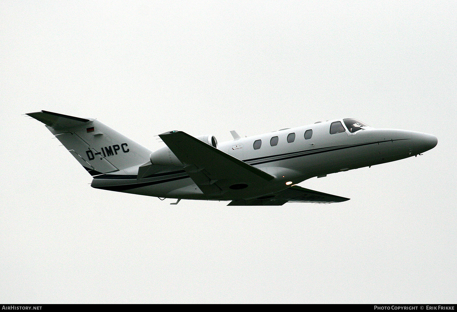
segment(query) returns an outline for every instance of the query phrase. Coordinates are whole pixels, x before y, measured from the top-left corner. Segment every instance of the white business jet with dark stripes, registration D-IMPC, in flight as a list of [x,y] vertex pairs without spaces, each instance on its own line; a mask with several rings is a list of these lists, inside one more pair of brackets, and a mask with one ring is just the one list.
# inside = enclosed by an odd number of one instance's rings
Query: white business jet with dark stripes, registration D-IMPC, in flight
[[338,203],[349,198],[295,184],[312,177],[417,156],[436,136],[375,129],[355,119],[329,120],[218,143],[213,135],[159,135],[166,146],[139,145],[92,118],[42,110],[43,122],[92,175],[92,187],[181,199],[226,200],[229,206]]

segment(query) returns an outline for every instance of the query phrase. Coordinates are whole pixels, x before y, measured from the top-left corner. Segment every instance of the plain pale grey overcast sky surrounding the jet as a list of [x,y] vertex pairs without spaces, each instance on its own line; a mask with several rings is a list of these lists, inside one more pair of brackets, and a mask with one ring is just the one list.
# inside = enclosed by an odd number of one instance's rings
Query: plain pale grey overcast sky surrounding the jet
[[[455,1],[0,2],[0,301],[455,303]],[[102,191],[37,120],[155,150],[356,118],[423,156],[300,183],[344,203]]]

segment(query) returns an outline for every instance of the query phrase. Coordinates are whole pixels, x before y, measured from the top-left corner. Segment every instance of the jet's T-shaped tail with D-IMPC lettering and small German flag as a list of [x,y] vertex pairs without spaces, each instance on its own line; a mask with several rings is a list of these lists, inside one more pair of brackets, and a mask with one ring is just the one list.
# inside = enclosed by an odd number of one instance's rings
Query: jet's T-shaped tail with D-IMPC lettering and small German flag
[[93,118],[42,110],[27,115],[41,121],[90,173],[137,174],[151,151]]

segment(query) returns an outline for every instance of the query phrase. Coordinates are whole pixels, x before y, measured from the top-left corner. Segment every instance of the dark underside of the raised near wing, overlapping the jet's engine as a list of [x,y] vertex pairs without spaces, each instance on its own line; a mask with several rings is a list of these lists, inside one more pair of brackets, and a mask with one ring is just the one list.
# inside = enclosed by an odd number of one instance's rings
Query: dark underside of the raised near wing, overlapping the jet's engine
[[[182,131],[159,135],[204,194],[221,195],[261,187],[273,176]],[[238,192],[239,194],[239,192]]]

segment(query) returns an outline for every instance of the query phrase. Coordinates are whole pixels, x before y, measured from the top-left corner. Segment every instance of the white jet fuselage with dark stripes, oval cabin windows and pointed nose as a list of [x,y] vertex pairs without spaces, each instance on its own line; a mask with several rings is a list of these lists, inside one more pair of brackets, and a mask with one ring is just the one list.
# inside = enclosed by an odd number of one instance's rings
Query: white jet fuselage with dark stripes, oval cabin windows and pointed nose
[[[331,125],[340,122],[340,131],[331,134]],[[341,125],[344,125],[341,127]],[[312,130],[312,134],[310,134]],[[335,130],[333,130],[335,132]],[[305,136],[307,134],[307,137]],[[255,166],[274,177],[267,185],[236,192],[207,196],[179,167],[170,166],[163,176],[142,179],[144,187],[119,189],[148,196],[185,199],[228,200],[234,198],[258,198],[281,191],[312,177],[373,166],[389,161],[417,156],[437,144],[434,135],[421,132],[375,129],[364,126],[351,132],[343,120],[330,120],[302,127],[273,131],[220,143],[218,149]],[[175,170],[170,169],[175,168]],[[181,168],[180,168],[181,169]],[[160,174],[160,173],[159,173]],[[154,179],[160,181],[154,183]],[[127,181],[124,180],[124,183]],[[138,181],[132,181],[132,183]],[[242,181],[240,181],[242,183]],[[118,185],[96,177],[92,186]],[[137,184],[138,185],[138,184]],[[121,187],[122,188],[122,187]]]

